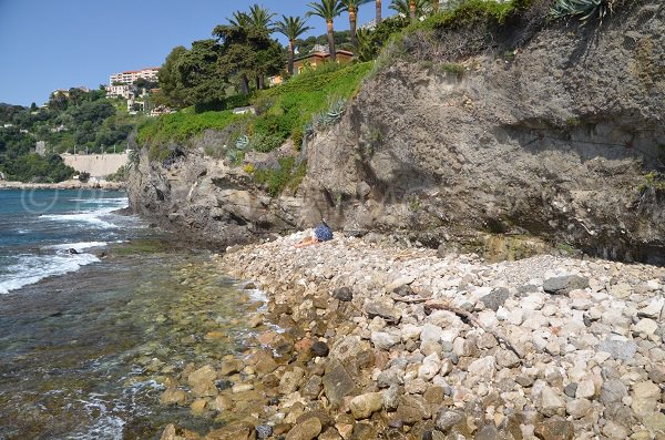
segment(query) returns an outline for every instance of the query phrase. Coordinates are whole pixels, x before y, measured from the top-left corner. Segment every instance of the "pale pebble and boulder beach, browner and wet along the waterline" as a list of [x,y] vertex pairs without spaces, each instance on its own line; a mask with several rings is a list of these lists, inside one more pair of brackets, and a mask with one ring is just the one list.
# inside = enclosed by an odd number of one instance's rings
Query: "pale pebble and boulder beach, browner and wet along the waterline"
[[665,439],[665,269],[303,234],[232,247],[258,348],[165,381],[175,439]]

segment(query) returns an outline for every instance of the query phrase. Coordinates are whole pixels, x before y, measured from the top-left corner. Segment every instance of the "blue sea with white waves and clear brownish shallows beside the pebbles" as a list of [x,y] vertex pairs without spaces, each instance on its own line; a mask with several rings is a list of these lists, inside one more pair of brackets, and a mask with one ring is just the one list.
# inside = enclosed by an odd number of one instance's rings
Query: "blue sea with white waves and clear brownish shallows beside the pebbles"
[[264,298],[126,207],[122,192],[0,191],[0,440],[219,426],[158,397],[249,349]]

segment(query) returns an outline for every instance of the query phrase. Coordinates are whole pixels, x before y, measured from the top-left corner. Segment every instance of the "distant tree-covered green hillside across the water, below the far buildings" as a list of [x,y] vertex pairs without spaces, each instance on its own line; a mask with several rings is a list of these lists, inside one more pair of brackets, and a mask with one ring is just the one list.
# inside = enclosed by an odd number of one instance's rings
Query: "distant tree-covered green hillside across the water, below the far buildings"
[[[74,170],[60,153],[122,152],[143,116],[105,98],[103,89],[70,89],[51,96],[44,108],[0,104],[0,172],[7,180],[53,183]],[[40,154],[38,153],[40,143]],[[41,144],[43,142],[43,144]],[[42,150],[43,149],[43,150]]]

